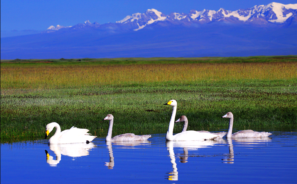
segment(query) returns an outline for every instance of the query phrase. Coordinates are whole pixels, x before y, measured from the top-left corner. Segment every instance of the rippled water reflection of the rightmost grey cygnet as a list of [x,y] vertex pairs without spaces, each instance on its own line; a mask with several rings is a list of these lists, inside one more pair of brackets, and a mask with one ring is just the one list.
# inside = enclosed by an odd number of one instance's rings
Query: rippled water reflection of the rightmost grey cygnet
[[233,143],[242,143],[246,146],[253,146],[252,144],[262,144],[268,141],[271,141],[271,137],[250,137],[250,138],[227,138],[227,143],[229,145],[229,154],[226,154],[223,160],[225,164],[234,164],[234,150],[233,150]]

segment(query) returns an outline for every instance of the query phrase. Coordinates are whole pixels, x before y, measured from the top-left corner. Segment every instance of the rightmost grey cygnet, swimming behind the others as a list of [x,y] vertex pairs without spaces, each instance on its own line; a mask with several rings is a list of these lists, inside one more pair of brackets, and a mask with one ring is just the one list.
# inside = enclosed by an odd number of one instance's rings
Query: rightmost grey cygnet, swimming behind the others
[[229,130],[226,136],[227,138],[268,137],[269,135],[272,135],[268,132],[255,132],[253,130],[241,130],[232,135],[233,114],[228,112],[222,118],[229,118]]

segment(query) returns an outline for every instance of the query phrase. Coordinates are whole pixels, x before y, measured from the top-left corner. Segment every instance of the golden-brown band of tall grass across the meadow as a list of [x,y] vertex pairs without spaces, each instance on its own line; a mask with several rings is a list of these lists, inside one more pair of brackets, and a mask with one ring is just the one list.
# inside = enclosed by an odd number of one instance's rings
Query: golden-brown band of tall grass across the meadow
[[296,78],[296,62],[1,66],[1,88]]

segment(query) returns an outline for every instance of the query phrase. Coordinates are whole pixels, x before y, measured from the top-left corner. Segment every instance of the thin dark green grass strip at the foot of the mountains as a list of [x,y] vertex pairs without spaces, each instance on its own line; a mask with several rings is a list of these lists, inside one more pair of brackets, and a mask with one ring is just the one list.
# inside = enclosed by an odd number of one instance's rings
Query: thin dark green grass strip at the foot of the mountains
[[176,64],[176,63],[263,63],[263,62],[296,62],[296,55],[286,56],[250,56],[250,57],[151,57],[151,58],[81,58],[81,59],[15,59],[1,60],[4,63],[23,64]]

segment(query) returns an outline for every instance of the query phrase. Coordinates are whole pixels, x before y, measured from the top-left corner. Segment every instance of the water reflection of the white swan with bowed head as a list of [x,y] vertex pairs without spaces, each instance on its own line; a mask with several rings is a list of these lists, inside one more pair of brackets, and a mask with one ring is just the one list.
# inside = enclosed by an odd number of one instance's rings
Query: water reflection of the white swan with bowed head
[[50,166],[57,166],[61,161],[61,155],[71,157],[87,156],[89,155],[89,151],[94,147],[94,143],[50,144],[50,150],[56,154],[56,159],[50,156],[48,151],[45,150],[46,162],[50,164]]

